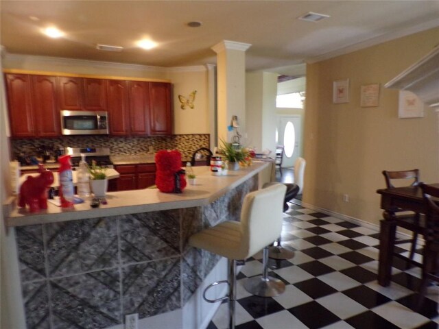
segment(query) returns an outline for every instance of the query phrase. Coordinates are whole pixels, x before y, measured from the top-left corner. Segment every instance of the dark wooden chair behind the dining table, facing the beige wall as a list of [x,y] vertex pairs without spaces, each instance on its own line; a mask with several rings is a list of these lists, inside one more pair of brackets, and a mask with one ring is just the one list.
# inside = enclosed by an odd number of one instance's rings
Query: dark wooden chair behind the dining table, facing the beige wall
[[[387,188],[394,188],[397,186],[417,186],[419,184],[419,169],[412,170],[403,170],[403,171],[383,171],[383,175],[385,178],[385,185]],[[408,183],[407,183],[408,182]],[[401,208],[394,208],[393,212],[407,212],[407,210]],[[410,247],[410,254],[408,259],[410,263],[413,263],[414,253],[416,251],[416,244],[418,241],[418,232],[419,222],[420,222],[420,214],[418,213],[405,213],[403,215],[396,215],[396,226],[400,226],[401,228],[405,228],[406,230],[410,230],[413,232],[412,239],[404,239],[395,241],[395,244],[401,243],[412,243]],[[399,258],[405,258],[401,256],[399,253],[394,253],[395,256]]]

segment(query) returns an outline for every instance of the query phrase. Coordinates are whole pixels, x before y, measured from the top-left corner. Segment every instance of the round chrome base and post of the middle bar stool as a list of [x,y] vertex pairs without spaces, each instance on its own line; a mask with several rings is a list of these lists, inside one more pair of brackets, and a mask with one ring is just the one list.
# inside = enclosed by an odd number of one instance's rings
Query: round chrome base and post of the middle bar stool
[[285,291],[285,283],[268,276],[268,247],[263,248],[263,274],[248,278],[244,282],[244,288],[252,295],[260,297],[276,297]]

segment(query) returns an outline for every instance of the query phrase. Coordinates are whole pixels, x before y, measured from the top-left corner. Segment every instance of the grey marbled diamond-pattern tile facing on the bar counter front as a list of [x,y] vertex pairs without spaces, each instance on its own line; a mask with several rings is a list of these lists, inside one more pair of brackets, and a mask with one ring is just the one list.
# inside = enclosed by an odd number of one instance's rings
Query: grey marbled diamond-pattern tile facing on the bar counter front
[[220,259],[189,236],[239,220],[257,186],[254,175],[203,207],[15,228],[27,329],[108,328],[182,308]]

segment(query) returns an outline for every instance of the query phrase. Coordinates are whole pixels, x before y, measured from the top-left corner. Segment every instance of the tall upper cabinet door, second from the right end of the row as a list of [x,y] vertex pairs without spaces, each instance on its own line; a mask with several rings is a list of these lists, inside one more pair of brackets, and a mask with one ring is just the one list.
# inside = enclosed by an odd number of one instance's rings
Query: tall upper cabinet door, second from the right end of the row
[[149,106],[150,82],[128,82],[128,97],[130,101],[130,134],[146,136],[150,133]]

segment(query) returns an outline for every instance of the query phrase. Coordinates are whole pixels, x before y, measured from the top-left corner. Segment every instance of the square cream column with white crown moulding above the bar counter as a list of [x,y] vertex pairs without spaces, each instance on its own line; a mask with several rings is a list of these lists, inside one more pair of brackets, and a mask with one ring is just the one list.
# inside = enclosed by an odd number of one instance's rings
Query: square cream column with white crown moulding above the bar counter
[[217,53],[217,138],[231,141],[227,127],[238,117],[239,133],[246,134],[246,53],[248,43],[223,40],[212,49]]

